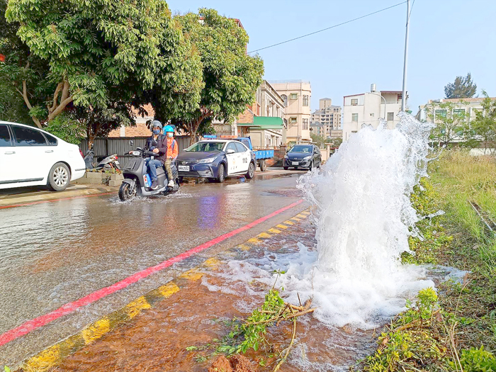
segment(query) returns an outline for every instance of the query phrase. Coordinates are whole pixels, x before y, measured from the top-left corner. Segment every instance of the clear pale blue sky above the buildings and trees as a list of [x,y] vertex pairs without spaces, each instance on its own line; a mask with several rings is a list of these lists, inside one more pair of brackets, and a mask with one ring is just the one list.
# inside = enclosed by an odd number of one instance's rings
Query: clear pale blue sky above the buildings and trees
[[[400,3],[402,0],[168,0],[173,13],[213,8],[239,18],[248,50],[288,40]],[[410,2],[412,2],[411,0]],[[319,98],[342,106],[343,96],[401,90],[406,3],[388,11],[261,50],[267,80],[304,79]],[[407,91],[414,113],[429,99],[444,98],[444,86],[472,73],[478,94],[496,96],[496,1],[415,0],[410,18]]]

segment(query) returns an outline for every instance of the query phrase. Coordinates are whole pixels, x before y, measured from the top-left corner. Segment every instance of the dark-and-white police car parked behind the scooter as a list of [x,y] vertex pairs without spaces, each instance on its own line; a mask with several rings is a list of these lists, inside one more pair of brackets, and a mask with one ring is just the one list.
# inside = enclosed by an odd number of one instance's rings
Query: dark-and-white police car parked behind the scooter
[[201,140],[177,157],[179,177],[224,181],[227,176],[252,179],[257,164],[252,150],[237,140]]

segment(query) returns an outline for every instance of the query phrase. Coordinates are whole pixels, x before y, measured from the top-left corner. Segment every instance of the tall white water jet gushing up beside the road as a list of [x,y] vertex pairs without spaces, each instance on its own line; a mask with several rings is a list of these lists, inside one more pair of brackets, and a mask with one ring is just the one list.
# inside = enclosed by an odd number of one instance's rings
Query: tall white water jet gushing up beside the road
[[291,267],[283,278],[290,300],[314,297],[315,315],[328,325],[366,329],[400,312],[420,288],[422,268],[403,266],[408,237],[419,220],[410,194],[427,176],[430,123],[400,113],[388,130],[365,125],[320,171],[298,180],[316,205],[316,261]]

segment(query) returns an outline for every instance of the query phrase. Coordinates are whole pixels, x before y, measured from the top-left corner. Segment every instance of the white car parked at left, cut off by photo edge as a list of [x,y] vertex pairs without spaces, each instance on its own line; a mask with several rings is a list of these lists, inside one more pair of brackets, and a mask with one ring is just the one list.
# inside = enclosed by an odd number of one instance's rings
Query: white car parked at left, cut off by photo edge
[[0,121],[0,188],[49,185],[62,191],[85,171],[77,145],[29,125]]

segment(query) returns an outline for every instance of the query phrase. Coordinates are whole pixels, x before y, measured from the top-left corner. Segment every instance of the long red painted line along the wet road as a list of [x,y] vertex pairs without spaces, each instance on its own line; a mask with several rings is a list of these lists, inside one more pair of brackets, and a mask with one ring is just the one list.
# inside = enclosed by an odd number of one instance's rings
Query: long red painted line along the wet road
[[240,232],[244,232],[246,230],[251,229],[254,226],[259,225],[261,222],[265,222],[266,220],[269,220],[269,218],[274,217],[275,215],[278,215],[279,213],[283,213],[285,210],[291,209],[295,207],[296,205],[299,205],[303,203],[303,200],[300,199],[299,201],[296,201],[295,203],[292,203],[290,205],[286,205],[286,207],[281,208],[279,210],[276,210],[275,212],[271,213],[270,215],[266,215],[265,217],[259,218],[258,220],[255,220],[253,222],[250,222],[248,225],[244,225],[243,227],[239,227],[236,230],[232,230],[231,232],[227,232],[224,235],[220,235],[219,237],[216,237],[215,239],[212,239],[206,243],[203,243],[201,245],[198,245],[198,247],[194,247],[184,253],[179,254],[176,257],[172,257],[171,259],[167,259],[166,261],[161,262],[160,264],[156,266],[151,266],[148,269],[145,269],[143,271],[139,271],[136,274],[133,274],[131,276],[128,276],[128,278],[123,279],[122,281],[118,281],[117,283],[113,284],[112,286],[108,286],[106,288],[101,288],[100,290],[90,293],[89,295],[86,295],[83,298],[79,298],[79,300],[75,300],[72,303],[66,303],[65,305],[62,305],[61,308],[58,308],[57,310],[53,310],[52,312],[49,312],[45,315],[41,315],[40,317],[35,317],[33,320],[28,320],[27,322],[24,322],[22,325],[13,328],[4,334],[0,335],[0,346],[7,344],[14,339],[17,339],[18,337],[23,336],[24,334],[28,334],[29,332],[38,329],[40,327],[43,327],[44,325],[47,325],[50,322],[53,322],[54,320],[63,317],[64,315],[70,314],[71,312],[76,311],[78,308],[81,308],[82,306],[89,305],[90,303],[94,303],[97,300],[100,300],[103,297],[106,297],[107,295],[110,295],[111,293],[115,293],[119,291],[120,289],[126,288],[130,286],[133,283],[136,283],[142,278],[146,278],[147,276],[150,276],[157,271],[160,271],[162,269],[165,269],[172,264],[176,264],[176,262],[183,261],[184,259],[187,259],[188,257],[193,256],[193,254],[197,254],[207,248],[212,247],[215,244],[218,244],[220,242],[223,242],[225,239],[229,239],[230,237],[233,237]]

